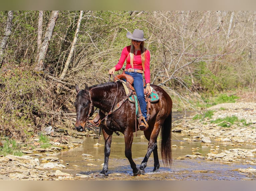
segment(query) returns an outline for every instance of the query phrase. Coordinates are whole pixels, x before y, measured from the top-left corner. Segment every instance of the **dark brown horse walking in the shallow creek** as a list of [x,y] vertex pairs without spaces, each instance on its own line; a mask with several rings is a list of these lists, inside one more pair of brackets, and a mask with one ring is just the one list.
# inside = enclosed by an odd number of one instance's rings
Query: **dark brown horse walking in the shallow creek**
[[[161,156],[165,166],[171,165],[171,118],[172,100],[170,96],[159,86],[152,85],[159,95],[159,100],[151,103],[150,119],[148,129],[144,131],[146,139],[149,141],[147,153],[137,168],[132,159],[132,141],[135,131],[135,104],[126,100],[127,95],[121,82],[110,82],[94,85],[90,88],[86,85],[84,90],[80,90],[76,85],[77,97],[75,107],[77,111],[76,129],[84,131],[86,122],[94,112],[94,106],[100,109],[101,128],[105,139],[105,159],[101,175],[105,176],[108,171],[108,160],[113,132],[119,131],[124,134],[125,156],[131,164],[133,175],[144,174],[144,168],[150,154],[154,155],[154,169],[158,171],[159,160],[157,153],[157,136],[161,129]],[[113,110],[120,102],[121,107]]]

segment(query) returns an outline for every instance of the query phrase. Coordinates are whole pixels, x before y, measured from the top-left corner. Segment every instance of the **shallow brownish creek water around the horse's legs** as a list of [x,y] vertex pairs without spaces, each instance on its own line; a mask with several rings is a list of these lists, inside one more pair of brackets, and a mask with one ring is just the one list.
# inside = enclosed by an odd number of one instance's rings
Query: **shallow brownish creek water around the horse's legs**
[[[179,113],[175,120],[180,117]],[[203,155],[210,153],[212,146],[201,145],[201,142],[183,141],[183,138],[191,138],[182,136],[179,133],[172,133],[172,145],[183,146],[172,147],[173,164],[171,168],[165,168],[161,162],[161,155],[158,150],[160,159],[159,172],[152,172],[153,170],[153,154],[149,157],[147,167],[145,168],[145,175],[133,177],[130,163],[124,154],[124,136],[113,135],[111,144],[111,154],[109,158],[109,180],[254,180],[254,176],[239,172],[238,168],[251,167],[249,164],[243,164],[245,161],[221,164],[218,161],[208,161],[204,159],[175,159],[179,156],[193,154],[193,152],[200,152]],[[94,146],[96,143],[102,144],[100,147]],[[143,160],[148,141],[143,137],[142,131],[137,131],[137,136],[134,133],[132,144],[132,156],[134,162],[139,167]],[[220,150],[229,149],[226,145],[221,145],[218,142],[213,144],[219,145]],[[159,145],[159,143],[158,143]],[[250,146],[249,146],[250,147]],[[192,149],[196,148],[196,149]],[[252,148],[251,148],[252,149]],[[90,154],[93,157],[85,157],[82,154]],[[104,139],[96,139],[93,137],[84,138],[84,144],[68,151],[62,151],[59,159],[63,160],[63,164],[68,165],[66,171],[72,174],[97,174],[101,172],[104,163]]]

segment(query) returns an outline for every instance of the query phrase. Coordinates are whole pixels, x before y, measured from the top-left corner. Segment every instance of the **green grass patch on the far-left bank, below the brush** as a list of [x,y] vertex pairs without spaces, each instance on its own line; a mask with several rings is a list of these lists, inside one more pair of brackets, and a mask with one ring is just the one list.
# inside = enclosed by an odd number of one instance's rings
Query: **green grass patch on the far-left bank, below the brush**
[[23,153],[19,150],[19,147],[15,140],[6,138],[3,141],[3,145],[0,147],[0,154],[1,155],[16,155],[16,156],[22,156]]

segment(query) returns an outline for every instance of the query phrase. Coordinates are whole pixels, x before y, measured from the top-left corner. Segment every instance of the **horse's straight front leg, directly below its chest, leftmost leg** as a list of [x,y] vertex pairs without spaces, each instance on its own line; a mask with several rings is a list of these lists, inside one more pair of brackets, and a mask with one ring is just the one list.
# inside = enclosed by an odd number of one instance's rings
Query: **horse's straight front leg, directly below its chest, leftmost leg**
[[106,176],[106,173],[108,172],[108,161],[109,161],[109,155],[110,155],[110,146],[112,141],[112,133],[107,133],[104,128],[102,128],[103,137],[105,140],[105,148],[104,148],[104,165],[103,169],[100,172],[101,175]]

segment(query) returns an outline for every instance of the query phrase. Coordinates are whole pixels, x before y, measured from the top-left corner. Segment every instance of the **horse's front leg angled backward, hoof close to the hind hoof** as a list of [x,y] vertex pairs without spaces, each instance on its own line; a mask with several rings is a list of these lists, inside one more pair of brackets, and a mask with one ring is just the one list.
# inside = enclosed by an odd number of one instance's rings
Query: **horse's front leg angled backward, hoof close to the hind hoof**
[[136,164],[132,159],[132,141],[133,141],[133,132],[132,131],[125,132],[124,133],[125,156],[130,162],[133,176],[137,176],[138,174],[144,174],[144,172],[136,167]]

